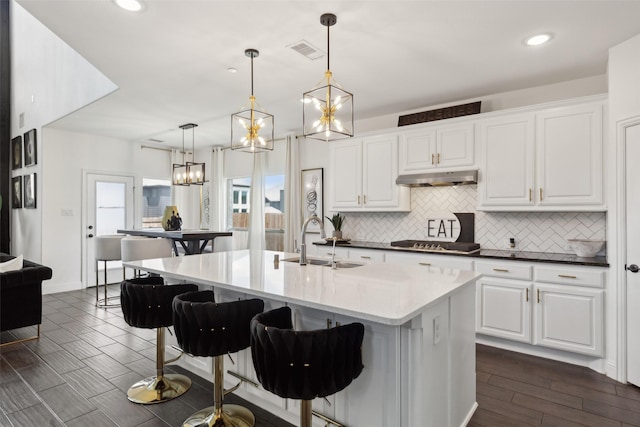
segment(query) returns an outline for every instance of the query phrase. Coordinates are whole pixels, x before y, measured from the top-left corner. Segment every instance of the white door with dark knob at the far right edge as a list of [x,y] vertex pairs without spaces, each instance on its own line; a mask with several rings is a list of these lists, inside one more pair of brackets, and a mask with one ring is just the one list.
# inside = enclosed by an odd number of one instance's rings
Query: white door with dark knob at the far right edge
[[626,129],[627,380],[640,386],[640,125]]

